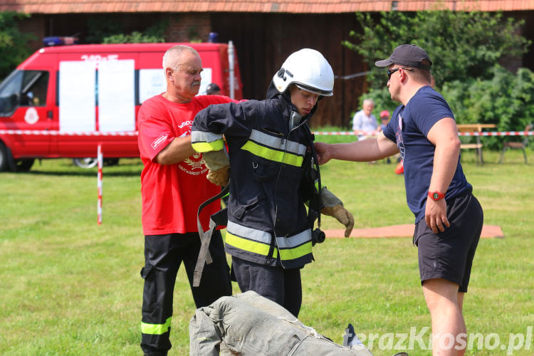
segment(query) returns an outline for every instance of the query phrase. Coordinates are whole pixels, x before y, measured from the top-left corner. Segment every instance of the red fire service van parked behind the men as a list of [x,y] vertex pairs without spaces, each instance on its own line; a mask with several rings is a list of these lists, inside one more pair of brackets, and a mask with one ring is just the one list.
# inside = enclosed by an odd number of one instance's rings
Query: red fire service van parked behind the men
[[[139,157],[137,112],[165,91],[162,58],[180,43],[45,47],[0,84],[0,171],[28,170],[36,158]],[[231,43],[181,43],[202,59],[201,88],[242,98]]]

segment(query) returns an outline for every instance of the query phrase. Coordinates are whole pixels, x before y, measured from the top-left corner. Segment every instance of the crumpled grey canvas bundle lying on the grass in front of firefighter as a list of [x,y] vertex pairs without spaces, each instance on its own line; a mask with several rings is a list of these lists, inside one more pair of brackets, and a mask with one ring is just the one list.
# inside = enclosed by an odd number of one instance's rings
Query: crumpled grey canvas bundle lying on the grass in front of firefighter
[[251,290],[198,308],[189,322],[189,352],[192,356],[372,356],[367,349],[337,345]]

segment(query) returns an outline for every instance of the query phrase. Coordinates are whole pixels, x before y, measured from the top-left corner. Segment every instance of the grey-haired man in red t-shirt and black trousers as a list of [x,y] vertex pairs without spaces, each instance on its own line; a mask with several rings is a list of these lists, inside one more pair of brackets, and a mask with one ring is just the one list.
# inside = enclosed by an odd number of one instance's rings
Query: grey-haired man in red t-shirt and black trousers
[[[202,62],[189,46],[169,48],[163,57],[167,91],[142,104],[139,111],[142,226],[145,235],[145,279],[142,304],[142,341],[145,355],[167,355],[172,319],[172,296],[182,261],[197,308],[231,295],[229,267],[219,231],[211,236],[213,263],[204,267],[200,286],[193,272],[200,250],[197,232],[199,205],[221,192],[206,179],[202,155],[191,146],[194,116],[211,104],[229,103],[219,95],[199,92]],[[210,204],[200,216],[204,230],[209,216],[220,208]]]

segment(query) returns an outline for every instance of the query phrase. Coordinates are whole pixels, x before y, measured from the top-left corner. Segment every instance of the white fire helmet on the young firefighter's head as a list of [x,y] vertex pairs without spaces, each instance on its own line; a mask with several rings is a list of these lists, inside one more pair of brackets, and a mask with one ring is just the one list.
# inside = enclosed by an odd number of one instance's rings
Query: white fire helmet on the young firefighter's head
[[285,92],[290,84],[310,93],[334,95],[334,72],[323,55],[310,48],[290,54],[282,68],[273,76],[278,92]]

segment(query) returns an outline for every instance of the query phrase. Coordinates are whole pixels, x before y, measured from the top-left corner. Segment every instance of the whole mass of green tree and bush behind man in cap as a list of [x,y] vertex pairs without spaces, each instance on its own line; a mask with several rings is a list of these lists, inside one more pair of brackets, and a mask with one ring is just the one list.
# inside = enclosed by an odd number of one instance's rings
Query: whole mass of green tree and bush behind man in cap
[[523,130],[534,113],[533,73],[517,75],[499,66],[506,58],[521,57],[530,41],[520,36],[524,21],[501,13],[433,10],[357,13],[362,30],[342,44],[368,63],[367,80],[377,110],[392,110],[384,68],[375,61],[388,58],[402,43],[414,43],[429,53],[436,89],[449,101],[457,122],[491,122],[500,130]]

